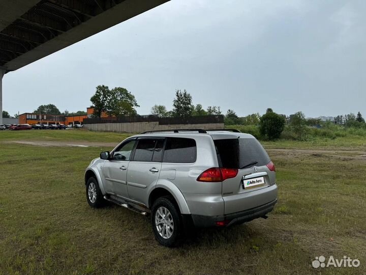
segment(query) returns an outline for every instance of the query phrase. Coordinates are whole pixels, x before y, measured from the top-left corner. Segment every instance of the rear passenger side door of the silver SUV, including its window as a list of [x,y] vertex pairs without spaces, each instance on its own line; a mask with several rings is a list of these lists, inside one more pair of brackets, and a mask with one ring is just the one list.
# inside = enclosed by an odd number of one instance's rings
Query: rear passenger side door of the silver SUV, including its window
[[139,139],[127,171],[131,200],[148,205],[148,187],[155,185],[162,167],[164,139]]

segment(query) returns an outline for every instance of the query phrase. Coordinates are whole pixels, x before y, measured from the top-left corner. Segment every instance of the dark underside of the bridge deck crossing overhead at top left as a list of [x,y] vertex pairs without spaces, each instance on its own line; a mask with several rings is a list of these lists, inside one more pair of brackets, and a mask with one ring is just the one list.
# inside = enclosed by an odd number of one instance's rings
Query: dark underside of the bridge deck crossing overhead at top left
[[169,0],[1,0],[0,67],[14,71]]

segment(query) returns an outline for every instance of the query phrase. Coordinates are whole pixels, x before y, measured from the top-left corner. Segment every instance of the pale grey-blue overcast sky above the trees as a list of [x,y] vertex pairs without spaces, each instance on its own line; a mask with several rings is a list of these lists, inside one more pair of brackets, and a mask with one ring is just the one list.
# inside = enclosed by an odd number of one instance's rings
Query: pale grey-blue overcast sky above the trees
[[172,0],[6,74],[3,109],[86,110],[104,84],[132,92],[140,115],[171,109],[176,89],[239,116],[366,115],[365,11],[363,0]]

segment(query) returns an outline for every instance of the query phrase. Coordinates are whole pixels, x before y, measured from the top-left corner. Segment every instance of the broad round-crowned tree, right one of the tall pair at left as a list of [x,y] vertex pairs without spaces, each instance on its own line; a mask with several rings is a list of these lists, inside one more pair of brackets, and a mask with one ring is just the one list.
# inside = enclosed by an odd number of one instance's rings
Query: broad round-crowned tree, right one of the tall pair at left
[[135,96],[122,87],[113,88],[110,91],[110,98],[107,102],[107,114],[109,116],[136,115],[135,108],[140,107]]

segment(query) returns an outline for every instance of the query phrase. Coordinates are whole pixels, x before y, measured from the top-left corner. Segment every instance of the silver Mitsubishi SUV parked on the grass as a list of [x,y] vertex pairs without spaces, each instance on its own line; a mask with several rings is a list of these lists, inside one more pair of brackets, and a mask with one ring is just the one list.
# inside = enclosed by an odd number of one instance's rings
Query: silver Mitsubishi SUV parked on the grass
[[277,202],[275,166],[238,130],[150,131],[102,152],[85,171],[86,199],[150,215],[173,246],[188,225],[228,227],[263,217]]

